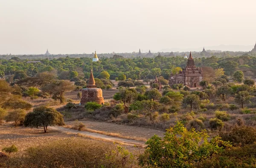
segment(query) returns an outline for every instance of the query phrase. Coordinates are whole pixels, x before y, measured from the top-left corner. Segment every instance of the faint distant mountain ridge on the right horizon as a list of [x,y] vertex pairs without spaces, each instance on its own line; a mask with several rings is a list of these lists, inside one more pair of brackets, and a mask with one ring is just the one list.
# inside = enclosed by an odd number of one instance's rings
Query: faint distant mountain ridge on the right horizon
[[[217,46],[204,46],[200,48],[164,48],[159,50],[160,52],[186,52],[186,51],[202,51],[205,50],[221,50],[221,51],[251,51],[254,45],[217,45]],[[157,51],[154,51],[157,52]]]

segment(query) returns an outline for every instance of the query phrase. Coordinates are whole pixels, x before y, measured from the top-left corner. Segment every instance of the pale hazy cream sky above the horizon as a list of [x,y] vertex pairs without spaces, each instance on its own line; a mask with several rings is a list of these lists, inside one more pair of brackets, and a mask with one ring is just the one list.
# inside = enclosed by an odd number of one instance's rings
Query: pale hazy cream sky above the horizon
[[0,54],[254,45],[256,0],[0,0]]

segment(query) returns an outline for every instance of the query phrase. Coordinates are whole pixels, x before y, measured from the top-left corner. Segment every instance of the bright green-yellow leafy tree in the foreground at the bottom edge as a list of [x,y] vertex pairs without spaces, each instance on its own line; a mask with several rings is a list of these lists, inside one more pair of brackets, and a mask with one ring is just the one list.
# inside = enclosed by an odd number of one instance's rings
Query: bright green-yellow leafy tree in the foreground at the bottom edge
[[208,140],[206,130],[189,131],[181,122],[166,129],[163,139],[154,135],[146,142],[146,149],[140,155],[140,165],[158,168],[192,168],[201,167],[201,163],[224,151],[231,145],[220,137]]

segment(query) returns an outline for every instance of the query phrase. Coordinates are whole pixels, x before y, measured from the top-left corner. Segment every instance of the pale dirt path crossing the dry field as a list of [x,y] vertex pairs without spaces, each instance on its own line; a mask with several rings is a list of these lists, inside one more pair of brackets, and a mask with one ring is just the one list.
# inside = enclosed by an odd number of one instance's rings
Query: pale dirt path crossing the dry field
[[68,128],[64,128],[64,127],[60,127],[60,126],[51,126],[50,128],[53,130],[57,130],[57,131],[65,132],[65,133],[73,133],[73,134],[80,133],[80,134],[83,134],[83,135],[86,135],[89,137],[99,138],[99,139],[113,141],[113,142],[119,142],[119,143],[123,143],[125,145],[145,146],[145,142],[138,141],[138,140],[129,140],[129,139],[124,139],[124,138],[119,138],[119,137],[111,137],[108,135],[103,135],[103,134],[98,134],[98,133],[93,133],[93,132],[86,132],[86,131],[78,131],[75,129],[68,129]]

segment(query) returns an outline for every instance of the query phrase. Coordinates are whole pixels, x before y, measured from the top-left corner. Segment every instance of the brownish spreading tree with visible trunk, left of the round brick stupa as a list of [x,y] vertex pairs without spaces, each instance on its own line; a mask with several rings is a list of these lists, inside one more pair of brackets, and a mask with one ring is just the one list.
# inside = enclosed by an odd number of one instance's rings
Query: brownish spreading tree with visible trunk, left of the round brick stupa
[[53,99],[60,100],[60,103],[64,101],[64,94],[67,91],[73,90],[74,86],[70,81],[64,80],[55,80],[50,84],[47,84],[45,87],[42,88],[44,92],[48,92],[49,94],[53,95]]

